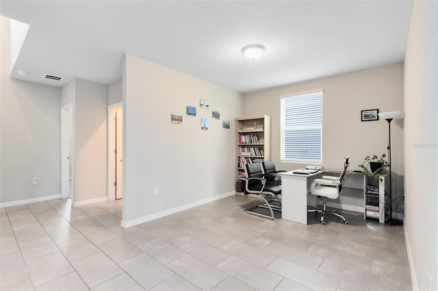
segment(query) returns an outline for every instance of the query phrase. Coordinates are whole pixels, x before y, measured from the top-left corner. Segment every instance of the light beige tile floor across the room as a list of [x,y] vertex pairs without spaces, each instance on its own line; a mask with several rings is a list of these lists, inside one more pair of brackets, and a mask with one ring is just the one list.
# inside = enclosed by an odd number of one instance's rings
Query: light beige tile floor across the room
[[122,201],[0,209],[0,289],[412,290],[402,226],[246,214],[240,195],[120,227]]

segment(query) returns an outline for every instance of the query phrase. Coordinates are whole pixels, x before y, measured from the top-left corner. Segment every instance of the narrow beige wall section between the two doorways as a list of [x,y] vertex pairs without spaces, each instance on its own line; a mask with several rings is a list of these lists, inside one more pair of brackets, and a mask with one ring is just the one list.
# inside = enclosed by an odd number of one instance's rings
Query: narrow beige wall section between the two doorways
[[73,204],[107,195],[107,85],[75,79]]

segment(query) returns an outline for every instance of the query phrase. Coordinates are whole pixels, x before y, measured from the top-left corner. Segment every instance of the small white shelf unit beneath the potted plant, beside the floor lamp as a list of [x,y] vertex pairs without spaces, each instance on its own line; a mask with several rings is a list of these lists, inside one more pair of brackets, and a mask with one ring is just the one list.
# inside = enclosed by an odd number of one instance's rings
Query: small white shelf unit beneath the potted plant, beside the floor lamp
[[387,174],[378,176],[378,186],[370,188],[366,176],[363,177],[363,219],[378,219],[378,222],[385,223],[388,205],[388,177]]

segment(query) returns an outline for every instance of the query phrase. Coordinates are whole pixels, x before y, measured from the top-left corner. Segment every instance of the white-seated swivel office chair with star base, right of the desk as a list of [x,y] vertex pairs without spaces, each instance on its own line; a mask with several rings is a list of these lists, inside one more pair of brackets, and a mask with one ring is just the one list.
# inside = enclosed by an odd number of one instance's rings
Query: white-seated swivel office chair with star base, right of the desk
[[329,199],[337,199],[339,194],[342,193],[342,184],[344,184],[344,176],[346,174],[348,168],[348,156],[344,158],[344,169],[342,170],[341,176],[333,177],[333,176],[322,176],[322,179],[313,180],[310,186],[310,193],[312,195],[317,195],[318,197],[323,197],[324,202],[322,203],[322,209],[315,208],[311,210],[307,210],[307,212],[320,212],[321,216],[321,224],[326,225],[327,223],[324,221],[324,214],[330,213],[336,215],[337,217],[342,218],[345,224],[348,224],[345,217],[339,214],[337,211],[327,211],[326,210],[326,198]]

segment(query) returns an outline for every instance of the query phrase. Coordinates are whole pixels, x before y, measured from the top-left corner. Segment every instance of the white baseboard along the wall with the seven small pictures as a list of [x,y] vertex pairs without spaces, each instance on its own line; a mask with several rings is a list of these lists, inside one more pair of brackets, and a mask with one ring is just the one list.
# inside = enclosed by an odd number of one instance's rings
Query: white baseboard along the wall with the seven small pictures
[[161,217],[166,217],[166,216],[168,216],[170,214],[175,214],[175,213],[181,212],[183,210],[188,210],[190,208],[194,208],[196,206],[207,204],[209,202],[214,202],[216,200],[223,199],[225,197],[229,197],[229,196],[233,196],[233,195],[235,195],[235,191],[224,193],[224,194],[220,194],[220,195],[216,195],[214,197],[209,197],[209,198],[202,199],[202,200],[199,200],[199,201],[196,201],[196,202],[192,202],[192,203],[189,203],[189,204],[177,206],[175,208],[170,208],[168,210],[163,210],[163,211],[160,211],[160,212],[157,212],[157,213],[149,214],[149,215],[146,215],[144,217],[139,217],[138,219],[131,219],[129,221],[122,220],[120,225],[123,228],[128,228],[128,227],[131,227],[131,226],[134,226],[134,225],[138,225],[138,224],[141,224],[141,223],[152,221],[154,219],[159,219]]

